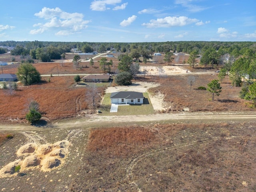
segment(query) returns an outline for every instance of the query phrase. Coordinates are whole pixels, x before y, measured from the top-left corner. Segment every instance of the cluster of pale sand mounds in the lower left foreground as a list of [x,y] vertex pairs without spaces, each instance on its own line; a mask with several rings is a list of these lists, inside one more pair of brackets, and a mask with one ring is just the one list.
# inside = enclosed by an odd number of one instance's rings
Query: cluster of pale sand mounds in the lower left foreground
[[20,172],[28,168],[40,168],[50,171],[64,164],[64,158],[68,154],[70,142],[63,140],[54,144],[36,145],[29,143],[21,146],[17,155],[22,160],[16,160],[4,166],[0,170],[0,178],[15,175],[15,167],[20,166]]

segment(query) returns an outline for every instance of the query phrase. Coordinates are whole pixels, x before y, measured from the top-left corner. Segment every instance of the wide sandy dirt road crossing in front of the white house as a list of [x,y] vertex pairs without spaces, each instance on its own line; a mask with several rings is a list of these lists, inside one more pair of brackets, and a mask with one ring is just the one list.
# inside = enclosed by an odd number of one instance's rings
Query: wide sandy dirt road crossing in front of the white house
[[129,124],[157,124],[161,122],[225,122],[225,121],[255,121],[255,112],[195,112],[195,113],[163,113],[152,115],[132,116],[99,116],[90,115],[84,118],[59,120],[49,122],[45,126],[32,126],[29,124],[0,124],[0,131],[20,130],[48,130],[49,128],[96,128],[108,126],[124,126]]

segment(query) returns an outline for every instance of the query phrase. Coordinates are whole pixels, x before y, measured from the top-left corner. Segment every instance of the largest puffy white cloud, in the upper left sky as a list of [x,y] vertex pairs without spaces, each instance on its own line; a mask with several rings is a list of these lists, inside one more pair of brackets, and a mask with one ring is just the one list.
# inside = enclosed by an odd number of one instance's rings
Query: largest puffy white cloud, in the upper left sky
[[34,27],[39,27],[38,29],[30,30],[30,34],[41,34],[46,30],[52,28],[60,28],[60,32],[57,32],[56,35],[67,34],[63,31],[78,32],[86,28],[86,24],[90,20],[84,20],[84,15],[81,13],[68,13],[64,12],[60,8],[42,8],[38,13],[34,14],[35,16],[46,20],[45,23],[34,24]]

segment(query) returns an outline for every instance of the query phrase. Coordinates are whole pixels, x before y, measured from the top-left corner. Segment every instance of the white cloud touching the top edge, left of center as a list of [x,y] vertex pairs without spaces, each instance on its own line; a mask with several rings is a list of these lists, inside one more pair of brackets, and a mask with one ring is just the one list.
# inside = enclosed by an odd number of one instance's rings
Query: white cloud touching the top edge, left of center
[[[118,3],[121,3],[122,0],[94,0],[91,2],[90,9],[93,11],[105,11],[110,9],[107,7],[108,5],[116,5]],[[113,10],[120,10],[125,9],[128,3],[124,3],[120,6],[116,6],[113,8]]]

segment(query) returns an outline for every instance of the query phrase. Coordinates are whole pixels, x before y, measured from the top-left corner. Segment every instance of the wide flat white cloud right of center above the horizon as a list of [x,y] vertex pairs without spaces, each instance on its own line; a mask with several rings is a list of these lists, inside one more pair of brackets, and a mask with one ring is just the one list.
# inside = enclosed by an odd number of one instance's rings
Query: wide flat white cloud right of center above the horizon
[[185,26],[198,22],[198,19],[191,19],[185,16],[180,17],[165,17],[157,20],[150,20],[150,23],[143,23],[142,26],[148,28],[158,28],[158,27],[173,27],[173,26]]

